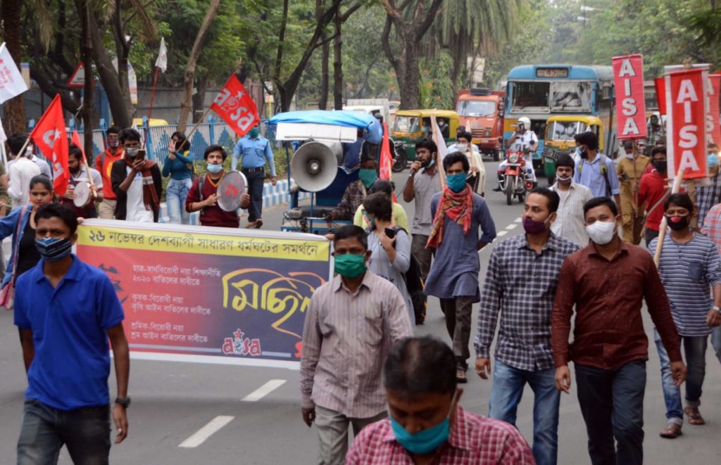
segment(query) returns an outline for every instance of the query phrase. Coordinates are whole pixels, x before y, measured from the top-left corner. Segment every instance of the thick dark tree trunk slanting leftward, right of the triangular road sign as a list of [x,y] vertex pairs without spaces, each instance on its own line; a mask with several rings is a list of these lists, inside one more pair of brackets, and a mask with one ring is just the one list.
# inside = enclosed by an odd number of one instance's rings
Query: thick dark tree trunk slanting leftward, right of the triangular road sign
[[[82,0],[76,0],[76,4],[82,4]],[[79,11],[81,11],[80,8]],[[133,124],[131,112],[125,104],[125,96],[123,96],[123,89],[120,87],[120,81],[118,81],[118,73],[115,72],[115,68],[107,56],[107,50],[105,50],[105,45],[102,42],[102,35],[95,21],[94,14],[90,15],[88,27],[90,37],[92,37],[93,61],[97,68],[100,83],[102,83],[107,94],[107,103],[110,105],[113,123],[119,127],[131,127]],[[90,64],[86,63],[86,66],[90,67]]]

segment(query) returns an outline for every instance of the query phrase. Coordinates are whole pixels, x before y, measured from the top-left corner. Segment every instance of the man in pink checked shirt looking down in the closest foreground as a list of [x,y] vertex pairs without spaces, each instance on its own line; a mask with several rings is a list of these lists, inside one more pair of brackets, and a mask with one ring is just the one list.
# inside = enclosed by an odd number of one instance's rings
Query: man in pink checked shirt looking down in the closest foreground
[[393,346],[383,368],[389,417],[361,430],[346,465],[535,464],[516,428],[461,408],[454,361],[430,336]]

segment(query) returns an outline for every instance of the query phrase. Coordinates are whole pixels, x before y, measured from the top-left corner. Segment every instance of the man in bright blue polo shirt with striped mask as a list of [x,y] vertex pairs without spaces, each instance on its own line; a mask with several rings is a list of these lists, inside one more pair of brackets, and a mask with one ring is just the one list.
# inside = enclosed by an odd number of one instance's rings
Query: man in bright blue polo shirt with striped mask
[[108,338],[118,384],[115,443],[128,435],[130,358],[123,307],[110,279],[71,254],[78,227],[71,209],[45,204],[37,209],[35,224],[42,259],[15,286],[15,325],[28,382],[17,463],[57,464],[64,443],[76,464],[107,464]]

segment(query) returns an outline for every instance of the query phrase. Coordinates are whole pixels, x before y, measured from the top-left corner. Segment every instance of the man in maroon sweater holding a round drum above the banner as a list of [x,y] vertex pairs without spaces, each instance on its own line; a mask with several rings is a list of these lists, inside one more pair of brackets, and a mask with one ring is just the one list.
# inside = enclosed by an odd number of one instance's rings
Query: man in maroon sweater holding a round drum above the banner
[[247,208],[250,196],[243,173],[225,171],[228,153],[221,145],[209,145],[203,153],[205,175],[193,181],[185,199],[187,212],[200,212],[200,225],[239,227],[239,208]]

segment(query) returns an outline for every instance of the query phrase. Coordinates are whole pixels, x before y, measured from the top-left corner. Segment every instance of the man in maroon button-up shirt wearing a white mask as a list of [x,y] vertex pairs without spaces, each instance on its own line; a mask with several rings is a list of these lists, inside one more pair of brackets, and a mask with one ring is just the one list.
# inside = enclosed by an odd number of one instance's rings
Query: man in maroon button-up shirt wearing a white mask
[[640,465],[648,359],[643,299],[668,351],[677,386],[686,378],[680,338],[653,258],[618,236],[621,215],[614,201],[590,199],[583,214],[590,243],[563,263],[551,318],[556,388],[569,392],[568,362],[573,361],[591,462]]

